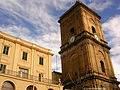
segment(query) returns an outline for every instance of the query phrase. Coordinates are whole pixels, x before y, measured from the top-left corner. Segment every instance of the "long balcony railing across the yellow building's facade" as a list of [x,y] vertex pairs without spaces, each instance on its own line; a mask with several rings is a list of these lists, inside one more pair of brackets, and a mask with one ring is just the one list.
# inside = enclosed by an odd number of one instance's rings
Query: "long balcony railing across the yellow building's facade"
[[47,79],[47,78],[40,78],[39,76],[28,75],[27,73],[21,73],[21,72],[16,72],[16,71],[12,71],[12,70],[4,70],[4,71],[0,71],[0,73],[14,76],[14,77],[34,80],[34,81],[38,81],[38,82],[44,82],[44,83],[56,84],[56,85],[59,84],[59,82],[55,81],[55,80],[51,80],[51,79]]

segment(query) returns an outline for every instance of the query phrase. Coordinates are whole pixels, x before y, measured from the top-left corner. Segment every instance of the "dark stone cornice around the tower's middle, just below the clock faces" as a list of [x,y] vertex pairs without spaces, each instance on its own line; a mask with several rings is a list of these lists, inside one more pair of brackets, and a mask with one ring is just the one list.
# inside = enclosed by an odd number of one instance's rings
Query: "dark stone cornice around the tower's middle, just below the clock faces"
[[[60,53],[60,54],[63,53],[64,51],[70,49],[71,47],[77,45],[79,42],[81,42],[81,41],[83,41],[83,40],[85,40],[85,39],[90,39],[90,40],[94,41],[96,44],[99,44],[100,46],[105,47],[105,48],[108,49],[108,50],[111,49],[111,48],[107,45],[108,43],[107,43],[106,41],[104,41],[104,40],[102,40],[102,39],[100,39],[100,40],[98,41],[98,40],[96,40],[96,39],[94,38],[94,35],[93,35],[92,33],[88,32],[88,31],[83,31],[83,32],[81,32],[80,34],[78,34],[78,35],[76,36],[76,40],[75,40],[74,43],[71,43],[71,44],[66,43],[65,45],[62,45],[62,46],[61,46],[61,51],[60,51],[59,53]],[[91,42],[86,41],[85,43],[81,43],[81,46],[83,46],[83,44],[90,44],[90,43],[91,43]]]

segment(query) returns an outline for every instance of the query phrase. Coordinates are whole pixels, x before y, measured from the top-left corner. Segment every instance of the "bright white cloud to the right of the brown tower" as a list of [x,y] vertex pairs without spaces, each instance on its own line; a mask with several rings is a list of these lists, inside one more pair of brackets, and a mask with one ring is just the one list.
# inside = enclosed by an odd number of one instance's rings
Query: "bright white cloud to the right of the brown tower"
[[[112,47],[111,59],[115,74],[120,80],[120,15],[110,18],[108,21],[102,24],[105,37],[108,40],[109,45]],[[106,33],[107,32],[107,33]],[[119,74],[119,75],[118,75]]]

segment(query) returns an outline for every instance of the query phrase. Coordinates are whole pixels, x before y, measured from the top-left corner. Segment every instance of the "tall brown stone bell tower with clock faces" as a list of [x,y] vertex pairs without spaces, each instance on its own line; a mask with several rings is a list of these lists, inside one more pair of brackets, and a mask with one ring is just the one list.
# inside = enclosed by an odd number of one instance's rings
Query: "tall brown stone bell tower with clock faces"
[[60,17],[64,89],[118,88],[100,19],[80,1]]

